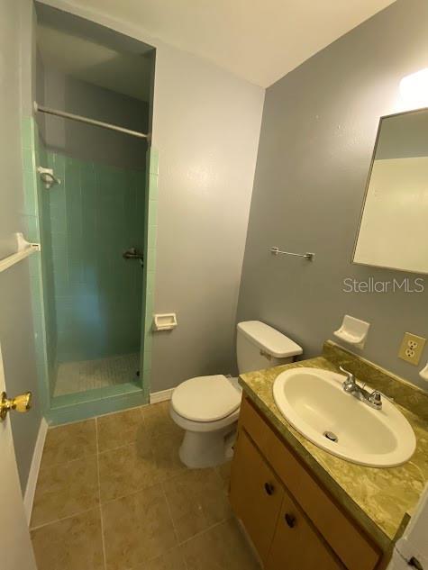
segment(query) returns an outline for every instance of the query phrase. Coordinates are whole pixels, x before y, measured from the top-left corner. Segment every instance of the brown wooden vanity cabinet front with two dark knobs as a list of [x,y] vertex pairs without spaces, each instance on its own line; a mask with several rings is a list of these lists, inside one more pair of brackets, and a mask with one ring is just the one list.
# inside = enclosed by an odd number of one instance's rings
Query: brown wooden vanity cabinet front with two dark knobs
[[378,570],[382,553],[248,397],[230,498],[265,570]]

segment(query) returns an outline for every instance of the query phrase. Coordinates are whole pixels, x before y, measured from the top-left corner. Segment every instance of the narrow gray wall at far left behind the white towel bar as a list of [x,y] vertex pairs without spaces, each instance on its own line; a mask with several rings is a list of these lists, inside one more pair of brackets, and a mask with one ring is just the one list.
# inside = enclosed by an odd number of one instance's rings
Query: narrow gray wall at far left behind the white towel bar
[[[25,231],[21,109],[32,101],[32,3],[0,4],[0,258],[16,250],[14,233]],[[17,33],[21,31],[21,33]],[[28,261],[0,274],[0,342],[6,388],[10,396],[31,390],[34,405],[28,414],[11,414],[14,447],[23,491],[41,421],[32,335]]]

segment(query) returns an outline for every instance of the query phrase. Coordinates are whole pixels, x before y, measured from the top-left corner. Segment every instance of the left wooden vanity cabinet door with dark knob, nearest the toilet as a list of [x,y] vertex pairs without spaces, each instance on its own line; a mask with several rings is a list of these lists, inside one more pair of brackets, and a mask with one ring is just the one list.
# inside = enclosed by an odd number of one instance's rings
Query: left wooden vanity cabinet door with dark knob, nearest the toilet
[[240,430],[231,474],[231,503],[235,514],[265,564],[275,533],[283,487],[245,431]]

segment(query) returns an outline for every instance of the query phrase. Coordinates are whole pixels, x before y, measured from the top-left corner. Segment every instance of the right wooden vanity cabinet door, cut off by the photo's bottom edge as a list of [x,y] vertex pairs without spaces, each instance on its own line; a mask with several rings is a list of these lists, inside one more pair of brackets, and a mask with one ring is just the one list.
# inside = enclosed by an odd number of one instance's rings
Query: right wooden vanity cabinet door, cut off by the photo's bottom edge
[[343,570],[344,566],[318,536],[287,491],[266,570]]

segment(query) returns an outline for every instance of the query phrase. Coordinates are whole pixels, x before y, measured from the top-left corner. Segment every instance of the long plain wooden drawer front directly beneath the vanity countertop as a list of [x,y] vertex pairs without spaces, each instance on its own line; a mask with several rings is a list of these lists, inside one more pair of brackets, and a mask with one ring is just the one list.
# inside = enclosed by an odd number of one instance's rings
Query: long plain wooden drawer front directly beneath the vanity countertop
[[344,565],[349,570],[373,570],[379,559],[377,549],[306,471],[248,397],[242,401],[240,425]]

